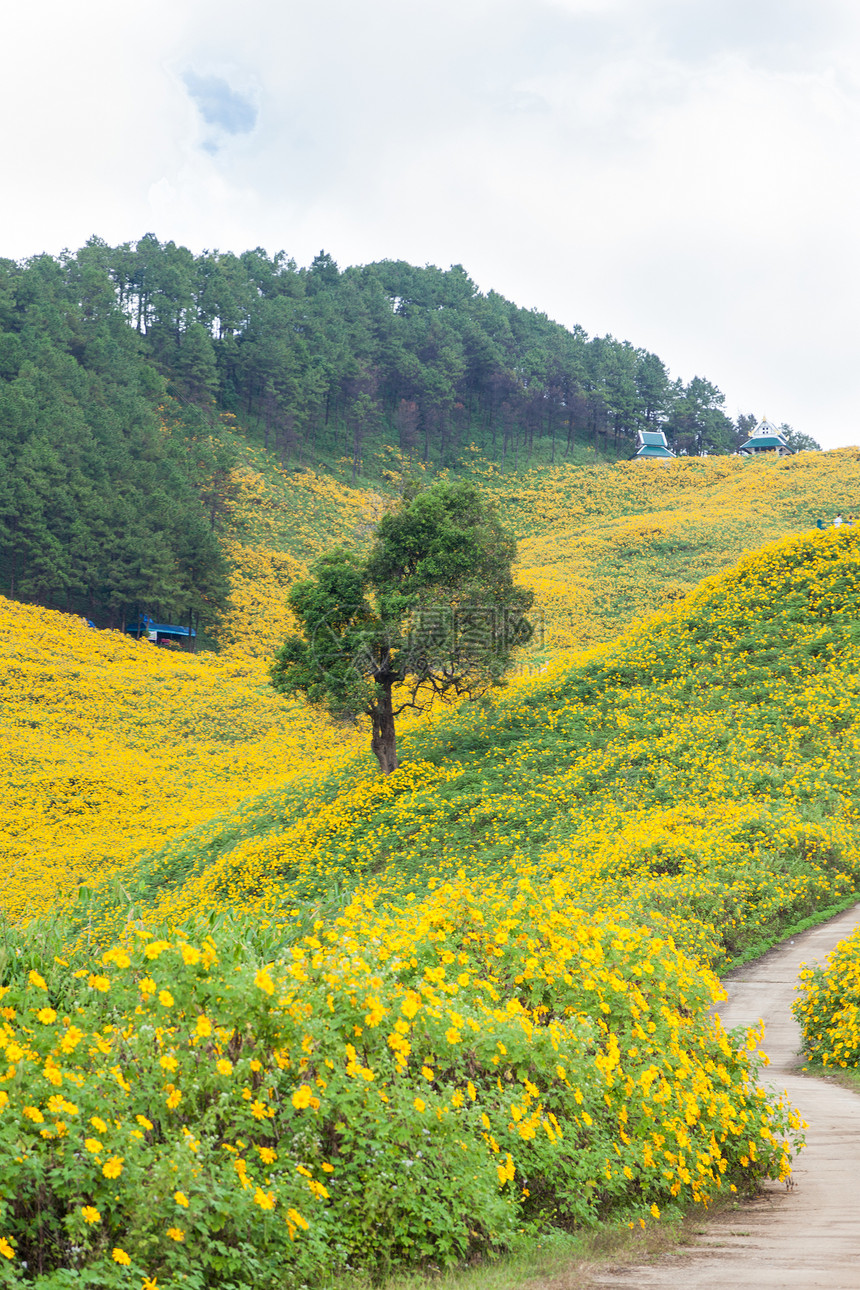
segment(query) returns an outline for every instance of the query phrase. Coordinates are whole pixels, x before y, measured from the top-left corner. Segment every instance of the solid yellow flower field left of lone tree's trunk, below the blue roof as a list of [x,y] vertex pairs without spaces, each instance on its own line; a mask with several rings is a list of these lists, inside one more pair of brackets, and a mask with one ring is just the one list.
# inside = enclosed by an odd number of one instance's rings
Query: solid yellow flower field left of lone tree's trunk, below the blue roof
[[249,795],[356,747],[253,660],[174,654],[0,599],[0,891],[49,911]]

